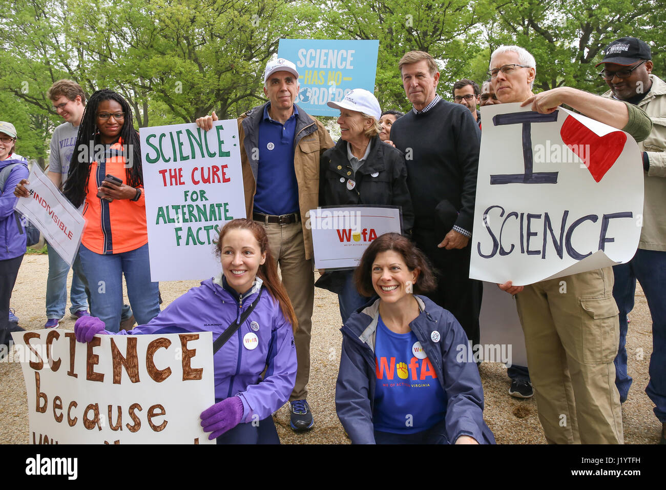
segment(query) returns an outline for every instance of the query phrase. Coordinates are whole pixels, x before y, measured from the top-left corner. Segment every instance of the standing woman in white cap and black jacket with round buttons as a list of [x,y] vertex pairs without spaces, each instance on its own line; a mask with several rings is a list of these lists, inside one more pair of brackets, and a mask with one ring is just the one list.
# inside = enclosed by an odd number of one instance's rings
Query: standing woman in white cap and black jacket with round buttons
[[[342,135],[322,155],[319,204],[399,206],[402,229],[410,230],[414,213],[407,188],[405,157],[402,151],[380,140],[379,102],[369,91],[354,89],[342,101],[329,102],[328,106],[340,110],[338,124]],[[363,228],[362,223],[354,224]],[[358,293],[353,275],[353,270],[329,271],[316,284],[338,294],[343,323],[369,299]]]

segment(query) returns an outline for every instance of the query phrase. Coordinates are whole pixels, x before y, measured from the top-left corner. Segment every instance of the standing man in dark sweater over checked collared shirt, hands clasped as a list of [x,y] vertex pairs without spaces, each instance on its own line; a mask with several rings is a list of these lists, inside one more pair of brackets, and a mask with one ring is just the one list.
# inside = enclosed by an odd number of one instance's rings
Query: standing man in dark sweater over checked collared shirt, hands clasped
[[480,131],[467,107],[437,95],[440,73],[431,55],[406,53],[400,74],[414,109],[394,123],[391,139],[407,161],[412,238],[438,269],[430,299],[451,311],[476,345],[482,286],[470,279],[470,237]]

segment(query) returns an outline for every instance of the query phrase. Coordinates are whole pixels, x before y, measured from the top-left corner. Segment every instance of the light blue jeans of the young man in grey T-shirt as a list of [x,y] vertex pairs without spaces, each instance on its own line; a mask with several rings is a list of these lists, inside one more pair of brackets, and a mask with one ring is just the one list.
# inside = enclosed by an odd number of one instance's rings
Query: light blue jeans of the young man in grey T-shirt
[[[81,281],[83,267],[79,254],[74,259],[72,265],[74,275],[72,277],[72,286],[69,290],[69,301],[72,305],[69,311],[76,313],[79,310],[88,309],[88,297],[85,291],[85,285]],[[49,247],[49,277],[46,281],[46,317],[47,319],[61,319],[65,316],[65,307],[67,306],[67,274],[69,273],[69,264],[65,262],[53,247]]]

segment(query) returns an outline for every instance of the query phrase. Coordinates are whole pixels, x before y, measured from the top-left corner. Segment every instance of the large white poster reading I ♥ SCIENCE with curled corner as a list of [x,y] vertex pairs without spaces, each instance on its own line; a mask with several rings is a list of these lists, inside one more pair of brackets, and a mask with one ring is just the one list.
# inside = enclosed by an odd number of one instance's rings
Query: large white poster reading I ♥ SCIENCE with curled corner
[[558,107],[482,107],[470,277],[526,285],[626,262],[643,164],[630,135]]

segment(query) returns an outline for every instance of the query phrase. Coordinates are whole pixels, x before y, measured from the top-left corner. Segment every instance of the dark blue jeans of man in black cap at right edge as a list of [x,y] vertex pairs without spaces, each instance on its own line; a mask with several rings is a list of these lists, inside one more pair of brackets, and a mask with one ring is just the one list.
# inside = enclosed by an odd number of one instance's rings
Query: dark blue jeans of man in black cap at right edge
[[650,381],[645,393],[653,401],[655,415],[666,422],[666,252],[638,249],[629,262],[613,266],[613,297],[619,309],[620,341],[615,357],[615,385],[620,400],[627,399],[631,377],[627,375],[627,315],[633,309],[636,279],[641,283],[652,317]]

